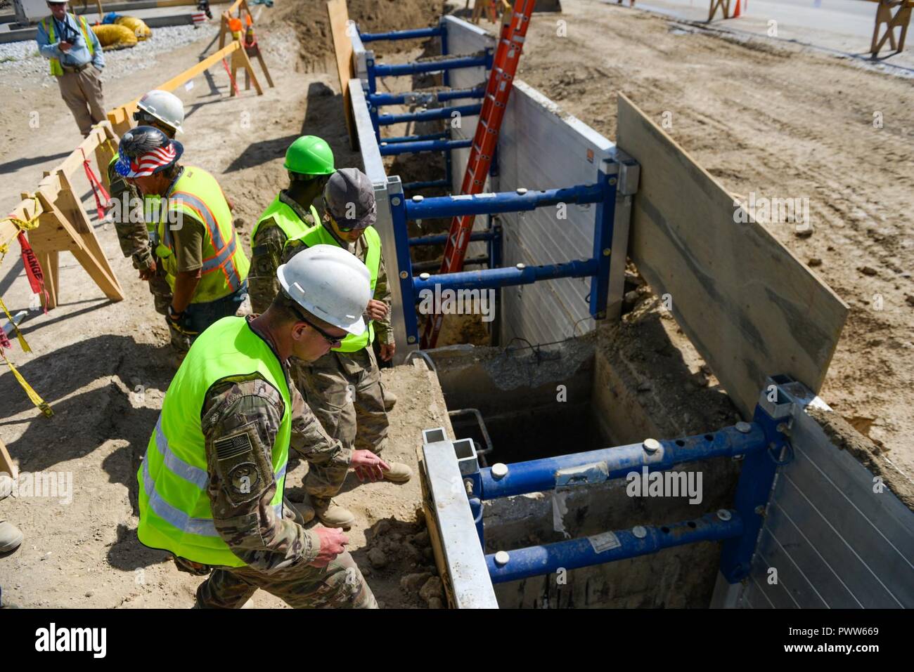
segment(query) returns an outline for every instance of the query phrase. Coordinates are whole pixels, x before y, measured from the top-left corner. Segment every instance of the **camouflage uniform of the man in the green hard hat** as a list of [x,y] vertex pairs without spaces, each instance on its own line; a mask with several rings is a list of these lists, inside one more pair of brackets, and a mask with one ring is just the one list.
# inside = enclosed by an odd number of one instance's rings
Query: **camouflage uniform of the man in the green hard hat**
[[[307,207],[292,199],[283,189],[280,200],[292,208],[296,215],[307,226],[314,226],[314,216]],[[323,216],[319,201],[314,200],[317,214]],[[265,312],[280,293],[280,282],[276,278],[276,269],[282,264],[282,247],[286,244],[286,235],[282,228],[272,219],[265,219],[257,229],[257,237],[250,245],[250,271],[248,272],[248,296],[250,296],[250,309],[255,315]]]

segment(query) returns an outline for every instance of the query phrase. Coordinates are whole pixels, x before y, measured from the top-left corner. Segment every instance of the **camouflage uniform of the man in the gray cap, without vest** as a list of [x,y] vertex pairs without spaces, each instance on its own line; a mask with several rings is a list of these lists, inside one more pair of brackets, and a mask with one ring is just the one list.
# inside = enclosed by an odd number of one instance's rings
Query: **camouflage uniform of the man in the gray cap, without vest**
[[[340,247],[365,261],[368,249],[365,236],[349,244],[336,236],[329,224],[324,222],[324,226]],[[301,239],[290,240],[283,249],[282,261],[289,261],[305,247]],[[375,320],[375,333],[379,342],[390,344],[394,342],[394,334],[390,326],[390,291],[383,255],[378,263],[373,299],[388,306],[384,319]],[[327,433],[342,443],[347,457],[351,456],[353,448],[370,450],[377,455],[384,450],[388,442],[388,414],[371,343],[356,352],[327,352],[311,363],[293,360],[292,375],[314,415]],[[343,487],[345,475],[345,469],[333,465],[309,468],[305,489],[314,496],[333,497]]]

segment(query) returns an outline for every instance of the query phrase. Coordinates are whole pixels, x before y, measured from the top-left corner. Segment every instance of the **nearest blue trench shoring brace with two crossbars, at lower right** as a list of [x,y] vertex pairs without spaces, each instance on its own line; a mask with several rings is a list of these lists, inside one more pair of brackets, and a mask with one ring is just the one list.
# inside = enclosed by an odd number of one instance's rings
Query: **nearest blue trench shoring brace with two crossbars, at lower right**
[[[762,391],[751,423],[738,423],[713,434],[642,444],[616,446],[585,453],[547,457],[511,465],[494,465],[465,473],[470,509],[484,547],[483,500],[541,492],[575,485],[592,485],[625,478],[634,471],[665,471],[676,465],[712,457],[742,458],[736,498],[731,509],[720,509],[693,520],[664,526],[635,526],[594,537],[499,551],[485,556],[492,583],[517,581],[605,562],[647,555],[696,541],[723,541],[720,571],[728,583],[749,575],[781,454],[790,448],[785,432],[792,399],[781,385],[788,376],[770,378]],[[472,488],[470,484],[472,483]]]

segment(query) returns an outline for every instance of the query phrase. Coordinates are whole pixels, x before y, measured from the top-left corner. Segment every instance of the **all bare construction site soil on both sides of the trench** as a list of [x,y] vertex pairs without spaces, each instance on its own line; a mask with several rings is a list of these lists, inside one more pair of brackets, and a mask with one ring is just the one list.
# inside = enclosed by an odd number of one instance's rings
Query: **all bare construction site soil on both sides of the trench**
[[[590,0],[565,3],[564,9],[560,16],[534,17],[521,79],[610,138],[616,91],[622,90],[658,120],[671,112],[667,131],[732,192],[810,199],[812,236],[795,236],[786,225],[772,226],[772,232],[851,305],[822,395],[881,446],[879,458],[888,458],[890,468],[912,473],[914,450],[905,441],[914,432],[909,81],[798,47],[731,42]],[[432,0],[349,3],[350,17],[368,30],[403,27],[405,16],[409,26],[432,25],[440,11]],[[563,37],[557,37],[558,20],[567,22],[559,31]],[[258,26],[274,89],[265,89],[262,97],[242,90],[229,98],[228,77],[217,67],[197,79],[195,88],[177,91],[188,110],[186,163],[217,175],[235,204],[246,246],[250,227],[285,184],[282,153],[293,138],[321,135],[333,146],[338,165],[358,163],[341,116],[324,4],[277,5],[263,12]],[[189,67],[214,36],[213,30],[202,30],[196,43],[163,50],[151,67],[106,81],[109,107]],[[399,48],[403,53],[391,61],[429,52],[419,42]],[[383,51],[398,53],[387,45]],[[23,82],[0,74],[5,90],[14,82],[16,95],[0,116],[4,212],[80,141],[50,78]],[[36,111],[40,127],[29,124]],[[883,121],[878,129],[874,112]],[[89,206],[88,183],[78,178]],[[112,226],[96,223],[96,234],[125,300],[101,298],[73,258],[62,255],[60,305],[47,315],[31,311],[23,331],[33,352],[16,348],[11,354],[55,415],[38,414],[13,375],[0,374],[0,437],[20,470],[69,474],[72,484],[71,498],[20,495],[0,502],[0,520],[14,522],[26,535],[19,550],[0,557],[0,585],[5,600],[21,606],[187,607],[200,580],[178,572],[164,552],[144,548],[135,536],[135,470],[173,371],[165,325],[122,257]],[[0,267],[0,294],[16,311],[28,308],[31,294],[14,257]],[[670,353],[639,343],[658,320],[665,331],[677,330],[666,324],[668,315],[659,314],[648,288],[639,288],[633,299],[636,308],[620,328],[622,350],[656,360],[654,384],[662,386],[664,360],[657,355]],[[697,395],[691,392],[716,384],[685,337],[676,338],[695,378],[692,387],[683,386],[681,406],[663,411],[671,415],[694,405]],[[420,430],[447,423],[443,399],[421,367],[399,367],[384,376],[399,396],[390,454],[416,467]],[[721,424],[732,420],[728,404],[715,407]],[[690,425],[683,424],[684,432]],[[304,469],[299,464],[292,471],[292,485],[301,482]],[[368,583],[380,602],[439,605],[440,584],[431,581],[428,538],[416,515],[418,483],[355,487],[350,478],[340,496],[357,517],[350,547],[368,568]],[[295,494],[293,489],[293,499]],[[282,605],[262,592],[253,604]]]

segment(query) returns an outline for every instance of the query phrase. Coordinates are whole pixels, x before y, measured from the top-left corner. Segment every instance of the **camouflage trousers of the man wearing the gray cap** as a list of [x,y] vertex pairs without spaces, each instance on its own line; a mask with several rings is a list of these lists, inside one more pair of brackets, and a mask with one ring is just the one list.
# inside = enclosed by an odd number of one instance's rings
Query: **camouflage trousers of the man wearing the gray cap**
[[[310,364],[295,362],[295,384],[332,438],[349,450],[380,454],[388,443],[384,386],[371,348],[327,352]],[[317,498],[333,497],[343,487],[348,467],[309,463],[304,489]]]

